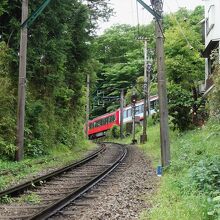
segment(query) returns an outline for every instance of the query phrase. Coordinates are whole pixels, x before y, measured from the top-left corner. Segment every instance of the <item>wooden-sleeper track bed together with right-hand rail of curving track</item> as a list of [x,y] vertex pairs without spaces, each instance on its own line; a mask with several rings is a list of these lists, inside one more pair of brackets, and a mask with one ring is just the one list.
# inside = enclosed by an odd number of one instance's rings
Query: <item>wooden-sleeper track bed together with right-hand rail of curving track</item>
[[[59,174],[53,172],[53,175],[49,174],[47,181],[33,180],[33,183],[38,183],[35,187],[30,188],[29,185],[28,190],[15,197],[10,204],[0,206],[1,219],[42,220],[53,216],[114,170],[125,158],[126,152],[122,145],[110,143],[105,150],[99,150],[92,160],[84,159],[84,162],[78,162],[71,169],[63,168]],[[15,188],[8,193],[16,194]],[[21,186],[18,186],[18,191],[21,191]],[[6,195],[5,193],[6,191],[1,195]]]

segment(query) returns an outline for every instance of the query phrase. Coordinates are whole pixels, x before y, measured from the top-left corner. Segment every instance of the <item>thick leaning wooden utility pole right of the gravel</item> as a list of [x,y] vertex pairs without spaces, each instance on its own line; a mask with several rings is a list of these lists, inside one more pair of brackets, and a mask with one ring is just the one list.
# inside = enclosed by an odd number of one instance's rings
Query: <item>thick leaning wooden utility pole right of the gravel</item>
[[161,162],[162,166],[170,165],[170,143],[168,128],[168,107],[167,89],[164,64],[164,37],[162,27],[162,0],[151,0],[154,11],[160,15],[156,18],[156,51],[157,51],[157,71],[158,71],[158,94],[160,107],[160,140],[161,140]]

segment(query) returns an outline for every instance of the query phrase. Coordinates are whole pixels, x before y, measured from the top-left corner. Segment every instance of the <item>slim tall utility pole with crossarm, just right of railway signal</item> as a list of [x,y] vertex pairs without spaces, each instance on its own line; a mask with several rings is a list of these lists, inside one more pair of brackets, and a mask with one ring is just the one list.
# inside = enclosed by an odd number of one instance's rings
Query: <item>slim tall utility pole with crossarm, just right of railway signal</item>
[[144,39],[144,112],[143,112],[143,134],[141,135],[141,143],[147,141],[147,100],[148,100],[148,80],[147,80],[147,39]]

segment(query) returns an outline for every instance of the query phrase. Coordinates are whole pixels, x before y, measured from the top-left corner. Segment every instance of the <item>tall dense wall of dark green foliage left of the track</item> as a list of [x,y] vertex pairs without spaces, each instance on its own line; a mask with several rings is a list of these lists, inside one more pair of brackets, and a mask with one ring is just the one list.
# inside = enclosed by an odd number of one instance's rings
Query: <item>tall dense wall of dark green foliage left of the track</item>
[[[29,2],[29,13],[41,2]],[[28,29],[27,155],[45,154],[59,144],[74,147],[82,140],[88,73],[85,66],[95,66],[89,42],[97,21],[108,19],[112,13],[108,3],[51,1]],[[12,158],[14,152],[9,149],[15,143],[16,132],[21,1],[1,1],[0,19],[0,148],[4,155],[10,152]],[[91,78],[95,78],[94,71]]]

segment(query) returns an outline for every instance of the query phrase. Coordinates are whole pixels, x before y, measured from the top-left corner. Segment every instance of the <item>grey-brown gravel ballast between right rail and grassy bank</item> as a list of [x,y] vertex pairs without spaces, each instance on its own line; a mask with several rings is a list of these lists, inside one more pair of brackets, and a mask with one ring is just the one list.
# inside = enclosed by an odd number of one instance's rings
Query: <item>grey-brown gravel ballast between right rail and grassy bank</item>
[[123,164],[104,182],[52,219],[138,219],[151,208],[159,177],[136,146],[128,146]]

